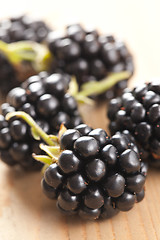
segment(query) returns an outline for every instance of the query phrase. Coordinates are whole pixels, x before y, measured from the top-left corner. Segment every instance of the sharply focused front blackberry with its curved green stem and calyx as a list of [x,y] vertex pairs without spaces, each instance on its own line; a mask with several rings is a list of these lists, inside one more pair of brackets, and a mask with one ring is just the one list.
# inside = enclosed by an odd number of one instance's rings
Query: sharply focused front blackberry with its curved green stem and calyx
[[30,116],[17,112],[7,117],[15,116],[25,120],[48,144],[40,145],[47,155],[34,158],[49,165],[42,190],[57,200],[62,213],[77,213],[90,220],[110,218],[143,199],[147,168],[127,134],[109,138],[104,130],[81,124],[68,130],[61,126],[59,137],[51,140]]

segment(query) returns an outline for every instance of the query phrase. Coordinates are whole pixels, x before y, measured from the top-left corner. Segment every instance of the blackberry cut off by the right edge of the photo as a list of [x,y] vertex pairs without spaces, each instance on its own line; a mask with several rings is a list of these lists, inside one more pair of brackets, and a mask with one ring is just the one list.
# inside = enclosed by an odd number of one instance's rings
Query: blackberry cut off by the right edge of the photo
[[135,137],[142,160],[160,166],[160,83],[157,80],[141,84],[121,97],[112,99],[108,117],[110,130],[127,129]]

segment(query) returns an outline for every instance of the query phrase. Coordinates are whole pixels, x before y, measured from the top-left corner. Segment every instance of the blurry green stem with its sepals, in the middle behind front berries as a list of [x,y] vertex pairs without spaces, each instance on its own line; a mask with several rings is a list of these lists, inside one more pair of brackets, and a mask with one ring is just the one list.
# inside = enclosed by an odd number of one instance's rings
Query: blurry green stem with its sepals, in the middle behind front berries
[[72,77],[69,86],[69,93],[75,97],[79,103],[94,104],[94,101],[89,96],[99,95],[112,88],[116,83],[128,79],[131,73],[123,71],[119,73],[111,73],[105,79],[101,81],[91,81],[82,84],[80,91],[78,91],[78,83],[75,77]]

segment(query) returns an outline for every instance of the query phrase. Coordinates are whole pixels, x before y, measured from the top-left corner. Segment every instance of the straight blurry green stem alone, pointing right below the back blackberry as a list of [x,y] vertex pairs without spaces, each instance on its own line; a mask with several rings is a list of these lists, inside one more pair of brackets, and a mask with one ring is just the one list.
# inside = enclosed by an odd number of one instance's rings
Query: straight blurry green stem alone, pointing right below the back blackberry
[[[84,90],[78,92],[75,95],[75,98],[78,100],[82,96],[87,97],[95,94],[100,94],[111,87],[113,87],[116,83],[128,79],[130,77],[130,73],[127,71],[119,72],[119,73],[112,73],[110,76],[105,78],[104,80],[101,81],[94,81],[94,82],[89,82],[84,85]],[[83,85],[82,85],[83,88]]]

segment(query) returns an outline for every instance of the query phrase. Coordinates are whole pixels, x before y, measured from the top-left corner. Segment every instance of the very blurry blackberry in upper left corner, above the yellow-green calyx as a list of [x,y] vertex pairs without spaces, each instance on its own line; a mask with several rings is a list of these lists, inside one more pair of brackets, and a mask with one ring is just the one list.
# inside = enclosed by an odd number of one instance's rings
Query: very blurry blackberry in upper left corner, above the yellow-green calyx
[[11,43],[21,40],[42,42],[50,32],[47,24],[27,15],[11,17],[0,22],[0,39]]

